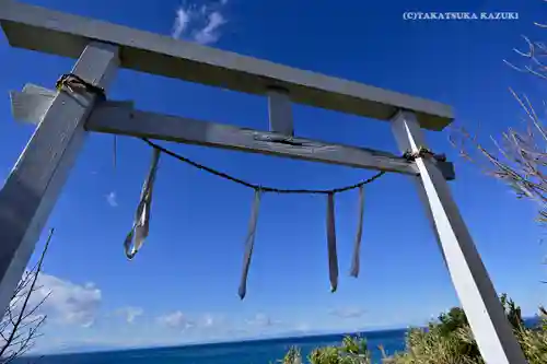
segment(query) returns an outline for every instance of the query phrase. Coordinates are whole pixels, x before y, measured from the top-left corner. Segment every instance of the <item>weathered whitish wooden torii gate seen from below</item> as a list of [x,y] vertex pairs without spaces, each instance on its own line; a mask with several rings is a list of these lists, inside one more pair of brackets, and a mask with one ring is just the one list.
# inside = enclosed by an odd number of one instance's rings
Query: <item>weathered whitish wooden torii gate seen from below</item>
[[[489,364],[526,363],[451,197],[446,179],[454,178],[452,165],[421,153],[421,129],[442,130],[453,120],[451,107],[12,0],[0,1],[0,23],[11,46],[78,58],[71,72],[73,87],[60,83],[50,91],[27,84],[22,93],[12,93],[14,117],[37,127],[0,190],[1,309],[10,302],[86,133],[97,131],[410,176],[482,357]],[[100,101],[119,67],[266,95],[270,132]],[[294,138],[291,102],[389,121],[400,151],[415,158]],[[310,143],[313,149],[305,146]]]

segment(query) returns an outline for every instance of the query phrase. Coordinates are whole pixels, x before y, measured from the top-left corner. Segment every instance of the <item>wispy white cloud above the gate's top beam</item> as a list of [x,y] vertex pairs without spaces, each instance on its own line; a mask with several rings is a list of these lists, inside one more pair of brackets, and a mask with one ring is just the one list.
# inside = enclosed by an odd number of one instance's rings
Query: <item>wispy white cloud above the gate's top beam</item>
[[172,36],[199,44],[212,44],[221,37],[221,27],[228,22],[222,11],[228,0],[201,4],[185,3],[175,13]]

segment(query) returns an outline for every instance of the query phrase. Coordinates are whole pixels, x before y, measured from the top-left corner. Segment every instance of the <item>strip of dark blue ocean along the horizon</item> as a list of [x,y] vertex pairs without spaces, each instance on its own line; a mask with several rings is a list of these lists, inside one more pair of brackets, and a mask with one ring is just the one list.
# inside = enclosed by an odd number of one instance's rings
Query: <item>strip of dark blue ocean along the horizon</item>
[[[382,344],[388,354],[405,349],[406,330],[362,332],[372,352],[373,363],[381,363]],[[313,349],[339,344],[344,334],[280,338],[243,342],[210,343],[172,348],[137,349],[24,357],[13,363],[35,364],[269,364],[283,357],[291,345],[307,355]],[[305,363],[306,361],[303,360]]]

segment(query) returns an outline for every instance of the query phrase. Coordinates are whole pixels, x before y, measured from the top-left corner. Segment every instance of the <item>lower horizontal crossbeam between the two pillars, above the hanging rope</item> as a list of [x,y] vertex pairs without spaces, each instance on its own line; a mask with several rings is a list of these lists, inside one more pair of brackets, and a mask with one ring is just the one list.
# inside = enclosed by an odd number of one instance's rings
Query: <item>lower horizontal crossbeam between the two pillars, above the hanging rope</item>
[[417,174],[415,163],[392,153],[133,110],[112,106],[108,103],[97,105],[85,128],[90,131],[161,139],[359,168]]

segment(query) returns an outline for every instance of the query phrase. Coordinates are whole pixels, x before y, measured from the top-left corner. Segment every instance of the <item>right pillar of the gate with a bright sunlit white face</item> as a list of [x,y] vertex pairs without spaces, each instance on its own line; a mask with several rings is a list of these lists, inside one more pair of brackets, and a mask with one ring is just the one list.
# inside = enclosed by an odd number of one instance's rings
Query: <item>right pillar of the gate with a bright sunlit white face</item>
[[[412,113],[399,111],[392,121],[392,129],[401,152],[416,153],[420,146],[427,148],[423,132]],[[434,161],[417,157],[416,164],[420,175],[411,178],[433,225],[482,359],[488,364],[526,363],[446,180]]]

